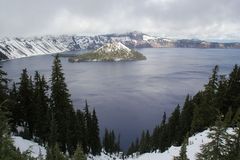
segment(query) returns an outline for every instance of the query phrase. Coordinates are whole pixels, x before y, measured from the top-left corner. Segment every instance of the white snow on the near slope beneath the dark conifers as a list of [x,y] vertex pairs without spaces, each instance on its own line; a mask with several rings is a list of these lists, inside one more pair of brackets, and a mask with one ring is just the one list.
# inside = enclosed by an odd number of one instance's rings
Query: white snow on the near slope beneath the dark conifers
[[[196,154],[200,152],[201,145],[210,142],[211,140],[207,137],[210,130],[205,130],[201,133],[196,134],[188,139],[187,146],[187,156],[190,160],[196,159]],[[46,155],[46,149],[44,147],[39,146],[37,143],[34,143],[29,140],[24,140],[21,137],[13,136],[12,137],[14,145],[20,149],[21,152],[31,151],[31,155],[33,157],[38,157],[40,150],[43,156]],[[171,146],[167,151],[163,153],[152,152],[145,153],[138,156],[133,156],[126,158],[125,160],[173,160],[174,156],[178,156],[181,147]],[[88,160],[121,160],[121,158],[112,155],[106,155],[102,153],[100,156],[88,156]]]

